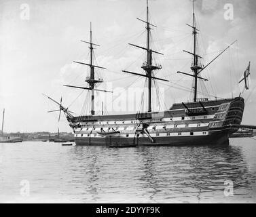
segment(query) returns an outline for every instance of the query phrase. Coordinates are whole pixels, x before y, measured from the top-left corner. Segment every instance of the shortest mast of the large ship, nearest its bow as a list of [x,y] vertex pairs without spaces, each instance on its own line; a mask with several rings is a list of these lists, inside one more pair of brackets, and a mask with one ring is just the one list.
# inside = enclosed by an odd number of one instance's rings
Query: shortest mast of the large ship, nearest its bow
[[[82,41],[82,40],[81,40]],[[103,79],[95,79],[95,73],[94,73],[94,68],[103,68],[106,69],[104,67],[101,66],[96,66],[93,64],[93,50],[94,50],[94,45],[95,46],[100,46],[100,45],[96,45],[95,43],[92,43],[92,22],[90,22],[90,41],[82,41],[84,43],[88,43],[90,45],[89,49],[90,49],[90,64],[84,63],[84,62],[77,62],[77,61],[73,61],[79,64],[84,64],[86,66],[90,66],[90,76],[86,77],[86,82],[88,83],[89,87],[77,87],[77,86],[73,86],[73,85],[64,85],[66,87],[75,87],[75,88],[79,88],[79,89],[84,89],[84,90],[90,90],[91,91],[91,115],[95,115],[95,111],[94,111],[94,91],[100,91],[100,92],[110,92],[113,93],[111,91],[107,91],[107,90],[98,90],[95,89],[94,87],[96,86],[96,83],[102,83]]]

